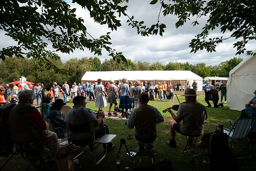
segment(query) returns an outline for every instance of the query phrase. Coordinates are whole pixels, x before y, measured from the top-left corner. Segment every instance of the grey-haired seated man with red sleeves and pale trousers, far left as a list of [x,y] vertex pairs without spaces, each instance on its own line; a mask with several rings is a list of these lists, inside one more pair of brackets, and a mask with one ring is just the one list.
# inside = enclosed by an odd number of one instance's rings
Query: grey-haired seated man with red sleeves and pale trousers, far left
[[[54,157],[56,152],[60,149],[57,134],[47,130],[47,125],[42,119],[41,113],[37,109],[33,110],[34,108],[31,106],[33,101],[33,90],[21,90],[19,92],[19,103],[18,105],[14,106],[14,108],[12,108],[8,117],[11,141],[15,143],[31,143],[35,138],[38,142],[40,142],[42,138],[41,129],[43,129],[44,138],[42,142],[48,145],[51,156]],[[27,112],[31,121],[31,125],[34,129],[35,137],[33,137],[28,118],[24,112],[26,109],[28,109]]]

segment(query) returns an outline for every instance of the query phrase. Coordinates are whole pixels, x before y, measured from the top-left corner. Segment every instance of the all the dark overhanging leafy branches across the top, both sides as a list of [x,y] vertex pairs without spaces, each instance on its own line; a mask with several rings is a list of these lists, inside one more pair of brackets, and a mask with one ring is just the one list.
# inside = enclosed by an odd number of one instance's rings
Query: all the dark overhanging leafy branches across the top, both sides
[[[217,44],[229,38],[235,38],[237,42],[237,54],[245,52],[245,45],[250,40],[256,40],[255,1],[241,0],[152,0],[150,4],[161,3],[157,23],[150,27],[144,25],[144,21],[136,21],[134,16],[126,13],[128,0],[99,0],[85,1],[73,0],[72,3],[81,5],[89,10],[90,17],[99,24],[106,24],[112,31],[121,26],[117,19],[121,15],[127,17],[128,25],[137,29],[142,36],[163,35],[166,25],[159,23],[160,15],[175,15],[178,21],[175,26],[181,27],[188,20],[193,26],[199,24],[199,18],[207,18],[207,23],[202,32],[191,40],[189,47],[191,52],[206,49],[207,52],[216,51]],[[55,72],[67,72],[50,62],[50,59],[59,60],[55,53],[72,53],[76,49],[88,48],[95,55],[102,55],[105,49],[112,56],[113,61],[120,63],[127,60],[121,52],[110,47],[110,32],[99,38],[94,38],[84,24],[84,19],[75,15],[76,9],[71,9],[64,0],[1,0],[0,1],[0,29],[5,35],[10,36],[18,46],[10,46],[0,51],[0,59],[9,57],[34,58],[46,63],[46,69],[55,68]],[[53,17],[54,16],[54,17]],[[221,33],[230,32],[228,37],[210,38],[210,32],[220,29]],[[54,51],[47,50],[49,40]],[[252,54],[252,51],[247,51]],[[184,66],[186,69],[188,66]],[[135,69],[133,66],[131,69]],[[161,69],[152,65],[151,69]]]

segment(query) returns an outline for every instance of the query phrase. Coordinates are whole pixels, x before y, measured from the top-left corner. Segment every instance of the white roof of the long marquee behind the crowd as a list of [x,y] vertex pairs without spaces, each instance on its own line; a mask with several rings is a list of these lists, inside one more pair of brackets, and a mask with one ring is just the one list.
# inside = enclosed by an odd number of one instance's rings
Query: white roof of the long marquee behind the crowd
[[[192,85],[193,80],[197,82],[198,90],[202,91],[203,78],[191,71],[87,71],[81,82],[97,81],[101,78],[102,81],[109,81],[110,79],[121,80],[127,78],[128,81],[190,81]],[[184,85],[184,84],[183,84]]]

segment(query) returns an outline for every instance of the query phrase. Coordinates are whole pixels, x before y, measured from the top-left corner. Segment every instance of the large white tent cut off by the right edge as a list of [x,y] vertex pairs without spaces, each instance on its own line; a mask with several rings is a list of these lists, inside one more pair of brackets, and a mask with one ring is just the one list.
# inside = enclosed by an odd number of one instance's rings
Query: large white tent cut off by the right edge
[[246,57],[229,72],[227,81],[227,104],[230,109],[242,110],[256,89],[256,55]]

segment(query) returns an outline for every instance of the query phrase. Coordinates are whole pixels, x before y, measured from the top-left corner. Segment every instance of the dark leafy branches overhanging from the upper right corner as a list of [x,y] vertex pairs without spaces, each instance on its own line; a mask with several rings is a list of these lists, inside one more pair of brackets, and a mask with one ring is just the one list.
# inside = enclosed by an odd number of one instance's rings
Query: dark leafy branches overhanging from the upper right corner
[[[166,1],[168,3],[166,3]],[[175,23],[176,28],[181,27],[188,20],[195,18],[192,22],[193,26],[199,25],[199,18],[207,18],[202,28],[202,32],[197,34],[191,40],[189,47],[191,52],[196,53],[198,50],[206,49],[207,52],[216,51],[216,46],[229,38],[237,40],[234,43],[234,48],[237,48],[236,54],[245,52],[245,45],[250,40],[256,40],[256,20],[255,1],[241,1],[241,0],[152,0],[150,4],[161,3],[160,12],[163,16],[176,15],[178,21]],[[159,13],[160,15],[160,13]],[[129,21],[127,21],[129,22]],[[133,23],[138,23],[133,21]],[[139,22],[139,23],[144,23]],[[135,25],[138,33],[145,36],[148,34],[162,35],[164,32],[164,24],[153,24],[151,27],[143,25]],[[210,32],[220,29],[221,33],[229,32],[228,37],[208,37]],[[252,51],[246,51],[247,55],[252,55]]]

